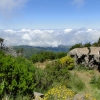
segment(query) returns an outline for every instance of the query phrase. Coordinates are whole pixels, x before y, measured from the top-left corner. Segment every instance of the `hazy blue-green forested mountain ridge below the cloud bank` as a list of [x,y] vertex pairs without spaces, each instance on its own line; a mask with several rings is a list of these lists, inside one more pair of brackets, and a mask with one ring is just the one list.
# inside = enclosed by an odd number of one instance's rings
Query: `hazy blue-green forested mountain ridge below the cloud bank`
[[22,48],[23,48],[23,55],[29,58],[33,54],[39,53],[41,51],[68,52],[70,46],[63,46],[63,45],[60,45],[58,47],[36,47],[29,45],[13,46],[13,49],[16,51]]

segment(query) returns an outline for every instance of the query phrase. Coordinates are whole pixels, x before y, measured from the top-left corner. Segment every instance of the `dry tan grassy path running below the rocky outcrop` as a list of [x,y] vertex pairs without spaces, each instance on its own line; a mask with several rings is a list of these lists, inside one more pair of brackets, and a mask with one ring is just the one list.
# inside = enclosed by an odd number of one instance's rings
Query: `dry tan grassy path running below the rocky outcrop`
[[[82,91],[78,91],[78,93],[86,93],[91,94],[96,100],[100,100],[100,89],[98,89],[93,84],[90,84],[91,80],[95,83],[95,79],[100,77],[100,73],[97,70],[89,70],[87,68],[79,66],[74,70],[70,71],[72,75],[77,75],[84,83],[85,88]],[[93,78],[95,76],[95,78]],[[74,81],[74,80],[73,80]],[[100,83],[99,83],[100,85]]]

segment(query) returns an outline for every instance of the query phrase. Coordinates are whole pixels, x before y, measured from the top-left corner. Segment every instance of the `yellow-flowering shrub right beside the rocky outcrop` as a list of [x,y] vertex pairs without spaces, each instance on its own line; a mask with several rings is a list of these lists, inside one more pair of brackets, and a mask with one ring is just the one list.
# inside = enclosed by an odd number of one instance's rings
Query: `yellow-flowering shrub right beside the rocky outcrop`
[[74,59],[71,58],[70,56],[62,57],[60,59],[60,62],[62,67],[67,67],[68,69],[74,68]]

